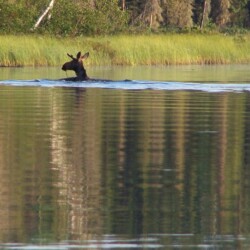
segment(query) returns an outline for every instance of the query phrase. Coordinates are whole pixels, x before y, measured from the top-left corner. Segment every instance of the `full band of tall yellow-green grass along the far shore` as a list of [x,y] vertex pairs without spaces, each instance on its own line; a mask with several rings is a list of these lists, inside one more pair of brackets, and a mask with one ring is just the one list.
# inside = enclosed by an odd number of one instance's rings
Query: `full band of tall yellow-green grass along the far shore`
[[60,65],[66,53],[89,51],[92,65],[250,63],[250,37],[139,35],[96,38],[0,36],[1,66]]

